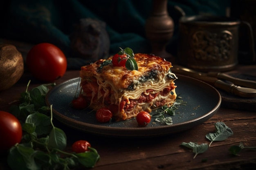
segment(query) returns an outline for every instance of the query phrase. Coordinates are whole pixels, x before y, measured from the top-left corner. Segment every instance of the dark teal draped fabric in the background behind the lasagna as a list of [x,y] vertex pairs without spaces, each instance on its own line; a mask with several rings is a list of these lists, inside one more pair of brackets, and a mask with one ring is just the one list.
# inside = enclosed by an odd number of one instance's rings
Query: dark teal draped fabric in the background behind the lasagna
[[[175,31],[166,50],[176,54],[179,12],[186,15],[225,15],[230,0],[168,0],[168,13]],[[150,53],[144,24],[152,11],[152,0],[11,0],[0,7],[0,38],[37,44],[50,42],[60,47],[69,58],[68,68],[79,69],[88,61],[70,55],[69,34],[80,18],[93,18],[106,23],[110,39],[109,55],[120,47],[135,53]]]

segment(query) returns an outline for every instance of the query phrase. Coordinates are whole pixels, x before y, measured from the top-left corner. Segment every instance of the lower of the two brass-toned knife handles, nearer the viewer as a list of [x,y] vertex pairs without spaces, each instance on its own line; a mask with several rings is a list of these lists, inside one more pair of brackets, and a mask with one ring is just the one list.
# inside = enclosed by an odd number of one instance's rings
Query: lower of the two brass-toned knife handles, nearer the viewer
[[227,91],[230,94],[237,95],[240,97],[253,98],[256,97],[256,89],[236,86],[234,84],[228,84],[222,80],[217,80],[214,84],[216,88],[220,88]]

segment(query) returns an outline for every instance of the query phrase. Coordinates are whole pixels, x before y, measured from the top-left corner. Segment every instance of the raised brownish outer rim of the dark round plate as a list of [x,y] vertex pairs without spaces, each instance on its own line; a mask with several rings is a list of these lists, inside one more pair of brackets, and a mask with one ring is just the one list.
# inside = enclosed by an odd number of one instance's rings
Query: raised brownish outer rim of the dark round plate
[[[153,137],[153,136],[162,136],[162,135],[167,135],[167,134],[171,134],[171,133],[175,133],[175,132],[180,132],[180,131],[184,131],[186,129],[192,128],[193,126],[196,126],[198,124],[201,124],[202,122],[210,119],[220,108],[221,106],[221,102],[222,102],[222,98],[221,95],[219,93],[219,91],[214,88],[213,86],[211,86],[210,84],[207,84],[199,79],[195,79],[193,77],[189,77],[186,75],[180,75],[180,74],[176,74],[178,79],[191,79],[194,82],[198,82],[200,84],[200,86],[205,86],[206,88],[211,89],[215,95],[216,98],[218,98],[218,102],[216,103],[216,105],[207,113],[205,113],[204,115],[195,118],[195,119],[191,119],[189,121],[184,121],[178,124],[172,124],[172,125],[163,125],[163,126],[146,126],[146,127],[126,127],[126,128],[122,128],[122,127],[109,127],[109,126],[101,126],[101,125],[96,125],[96,124],[89,124],[83,121],[79,121],[76,119],[72,119],[70,117],[67,117],[65,115],[63,115],[62,113],[59,113],[57,110],[55,110],[54,108],[52,108],[52,112],[53,112],[53,117],[55,117],[58,121],[60,121],[61,123],[74,128],[76,130],[80,130],[80,131],[84,131],[84,132],[89,132],[92,134],[96,134],[96,135],[104,135],[104,136],[117,136],[117,137]],[[181,78],[182,77],[182,78]],[[63,86],[69,82],[74,82],[76,80],[79,80],[79,77],[75,77],[72,79],[68,79],[65,82],[62,82],[60,84],[57,84],[56,86],[54,86],[53,88],[51,88],[48,93],[45,96],[45,102],[47,104],[47,106],[50,106],[50,102],[49,102],[49,95],[56,90],[56,88]],[[77,124],[78,123],[78,124]],[[188,127],[182,127],[184,125],[190,125]],[[83,128],[85,129],[83,129]],[[168,131],[168,129],[173,128],[174,130],[172,130],[171,132]],[[100,132],[101,130],[103,130],[103,132]],[[108,130],[110,130],[110,132],[108,132]],[[163,132],[164,130],[164,132]],[[124,133],[120,134],[119,132],[122,131]],[[133,133],[135,132],[136,133]],[[148,131],[153,131],[148,133]],[[162,132],[161,132],[162,131]],[[160,133],[161,132],[161,133]]]

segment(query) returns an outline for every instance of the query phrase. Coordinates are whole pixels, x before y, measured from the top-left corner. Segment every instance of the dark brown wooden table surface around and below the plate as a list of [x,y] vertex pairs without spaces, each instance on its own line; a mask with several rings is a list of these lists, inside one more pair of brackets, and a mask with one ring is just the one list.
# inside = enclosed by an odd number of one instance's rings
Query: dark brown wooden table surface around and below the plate
[[[254,71],[250,71],[251,69]],[[241,70],[255,74],[256,66],[241,66],[238,71]],[[79,77],[78,70],[67,71],[56,81],[56,84],[74,77]],[[25,91],[29,79],[31,79],[29,88],[43,84],[31,77],[30,73],[25,72],[18,83],[7,91],[0,92],[0,110],[8,111],[9,106],[18,103],[20,93]],[[225,141],[213,142],[206,152],[193,159],[192,150],[181,147],[180,144],[190,141],[209,144],[210,141],[205,135],[215,132],[214,124],[218,121],[229,126],[234,135]],[[249,170],[256,167],[256,151],[244,149],[240,152],[240,156],[231,155],[228,151],[229,147],[240,142],[245,146],[256,146],[256,111],[254,110],[220,107],[209,120],[189,130],[143,139],[88,134],[69,128],[56,119],[54,124],[63,129],[67,135],[67,151],[71,151],[72,143],[80,139],[90,141],[92,147],[97,149],[101,159],[94,170]],[[0,170],[2,169],[9,169],[6,159],[1,159]]]

